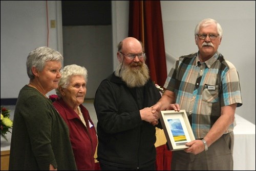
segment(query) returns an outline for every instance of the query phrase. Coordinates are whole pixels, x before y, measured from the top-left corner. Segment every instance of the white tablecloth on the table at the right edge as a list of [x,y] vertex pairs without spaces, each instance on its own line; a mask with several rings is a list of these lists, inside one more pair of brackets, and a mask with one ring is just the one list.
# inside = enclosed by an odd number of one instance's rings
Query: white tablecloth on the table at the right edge
[[255,125],[236,114],[234,170],[255,170]]

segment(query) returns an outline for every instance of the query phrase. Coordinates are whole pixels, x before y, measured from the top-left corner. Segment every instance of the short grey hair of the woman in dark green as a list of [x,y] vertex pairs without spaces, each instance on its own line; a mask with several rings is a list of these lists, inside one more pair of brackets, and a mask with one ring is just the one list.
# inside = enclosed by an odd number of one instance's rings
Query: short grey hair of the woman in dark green
[[63,61],[62,55],[53,50],[50,47],[42,46],[37,47],[35,50],[31,51],[27,57],[27,74],[31,80],[35,78],[32,72],[32,67],[36,67],[38,71],[44,69],[47,61]]

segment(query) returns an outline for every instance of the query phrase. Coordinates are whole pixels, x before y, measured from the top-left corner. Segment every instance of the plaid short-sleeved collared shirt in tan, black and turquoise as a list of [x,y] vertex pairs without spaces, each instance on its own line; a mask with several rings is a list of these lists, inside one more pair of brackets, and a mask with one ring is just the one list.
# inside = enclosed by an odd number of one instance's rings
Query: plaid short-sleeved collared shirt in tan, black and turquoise
[[[236,67],[220,53],[200,63],[198,53],[182,56],[170,70],[164,88],[175,92],[195,138],[203,138],[221,115],[221,107],[242,105]],[[236,120],[225,133],[231,132]]]

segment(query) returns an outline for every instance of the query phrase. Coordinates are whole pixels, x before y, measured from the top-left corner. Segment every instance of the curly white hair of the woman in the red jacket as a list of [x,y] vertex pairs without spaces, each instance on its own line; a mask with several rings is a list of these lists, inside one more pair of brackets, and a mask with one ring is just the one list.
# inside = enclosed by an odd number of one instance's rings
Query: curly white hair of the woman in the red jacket
[[[87,69],[83,66],[76,64],[67,65],[60,70],[61,78],[59,80],[58,87],[67,88],[70,84],[70,79],[73,76],[82,76],[87,83]],[[58,88],[55,89],[58,96],[61,96]]]

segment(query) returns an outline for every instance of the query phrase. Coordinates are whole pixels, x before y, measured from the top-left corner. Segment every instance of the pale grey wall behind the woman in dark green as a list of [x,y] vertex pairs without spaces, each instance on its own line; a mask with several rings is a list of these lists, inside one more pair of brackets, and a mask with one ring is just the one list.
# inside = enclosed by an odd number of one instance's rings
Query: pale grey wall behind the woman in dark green
[[[48,1],[49,25],[56,20],[57,3]],[[46,16],[46,1],[1,1],[1,99],[17,98],[28,84],[27,56],[47,46]],[[57,41],[57,28],[49,28],[49,47],[58,50]]]

